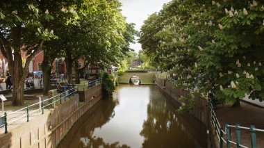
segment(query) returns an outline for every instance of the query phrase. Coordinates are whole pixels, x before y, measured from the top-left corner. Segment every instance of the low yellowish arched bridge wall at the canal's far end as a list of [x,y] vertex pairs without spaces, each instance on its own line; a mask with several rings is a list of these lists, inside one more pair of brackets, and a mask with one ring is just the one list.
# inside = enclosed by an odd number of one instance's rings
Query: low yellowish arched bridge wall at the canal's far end
[[141,84],[154,84],[155,73],[152,72],[125,72],[124,75],[118,76],[118,83],[128,84],[133,75],[140,78]]

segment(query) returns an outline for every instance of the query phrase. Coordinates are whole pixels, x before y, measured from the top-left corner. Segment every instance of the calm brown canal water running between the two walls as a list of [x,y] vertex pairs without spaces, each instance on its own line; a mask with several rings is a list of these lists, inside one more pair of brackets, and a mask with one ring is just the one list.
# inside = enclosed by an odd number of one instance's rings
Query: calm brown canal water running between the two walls
[[154,85],[121,85],[72,127],[58,147],[207,147],[206,127]]

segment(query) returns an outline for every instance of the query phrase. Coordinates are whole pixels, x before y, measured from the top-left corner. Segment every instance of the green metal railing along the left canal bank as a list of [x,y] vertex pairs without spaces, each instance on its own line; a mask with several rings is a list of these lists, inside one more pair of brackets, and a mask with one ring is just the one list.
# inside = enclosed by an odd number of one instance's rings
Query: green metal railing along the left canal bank
[[[15,122],[19,122],[22,120],[26,120],[26,122],[29,122],[29,117],[37,112],[42,112],[44,114],[44,108],[51,106],[54,108],[56,102],[60,101],[60,104],[62,104],[62,101],[66,101],[67,97],[69,99],[70,96],[74,95],[78,91],[78,87],[70,88],[69,90],[65,90],[65,92],[62,92],[60,94],[57,94],[56,96],[53,96],[49,99],[42,99],[41,101],[38,101],[35,104],[31,104],[30,106],[26,106],[24,108],[21,108],[19,110],[15,110],[11,113],[4,113],[4,115],[0,116],[0,128],[4,126],[5,132],[8,133],[8,125],[14,124]],[[39,106],[39,108],[38,108]],[[38,109],[32,109],[30,108],[37,107]],[[23,112],[25,110],[25,112]],[[22,113],[21,113],[22,112]],[[19,113],[19,115],[12,117],[11,115],[15,115]],[[10,119],[8,119],[10,117]]]

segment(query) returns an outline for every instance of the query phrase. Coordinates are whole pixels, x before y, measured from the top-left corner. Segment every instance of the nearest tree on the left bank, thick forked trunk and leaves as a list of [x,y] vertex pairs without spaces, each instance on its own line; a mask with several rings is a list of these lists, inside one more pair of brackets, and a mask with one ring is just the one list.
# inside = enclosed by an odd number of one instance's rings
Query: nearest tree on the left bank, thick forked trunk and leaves
[[[8,60],[8,69],[13,79],[13,105],[24,104],[24,80],[28,65],[42,49],[45,40],[56,38],[49,30],[53,19],[50,10],[63,2],[51,1],[1,1],[0,5],[0,49]],[[22,64],[22,53],[26,62]]]

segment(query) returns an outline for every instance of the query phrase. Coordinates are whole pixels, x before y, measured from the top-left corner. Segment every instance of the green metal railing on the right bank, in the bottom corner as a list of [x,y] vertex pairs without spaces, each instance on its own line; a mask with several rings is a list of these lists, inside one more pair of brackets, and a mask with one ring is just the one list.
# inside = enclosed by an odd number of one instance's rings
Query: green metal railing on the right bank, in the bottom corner
[[[225,124],[224,129],[223,129],[223,127],[220,125],[217,119],[217,116],[215,115],[215,110],[213,109],[213,104],[211,101],[209,102],[209,106],[210,106],[213,126],[215,127],[215,133],[220,142],[220,148],[224,147],[224,144],[226,145],[227,148],[231,147],[231,145],[236,145],[236,147],[246,147],[246,148],[247,147],[252,147],[252,148],[257,147],[256,131],[264,132],[263,129],[256,129],[254,125],[251,125],[249,127],[244,127],[244,126],[240,126],[239,124],[236,124],[236,125]],[[231,140],[231,129],[232,128],[236,130],[236,134],[233,134],[236,136],[235,137],[236,141]],[[241,144],[241,133],[240,133],[241,129],[249,130],[250,140],[251,140],[250,146],[245,146]]]

